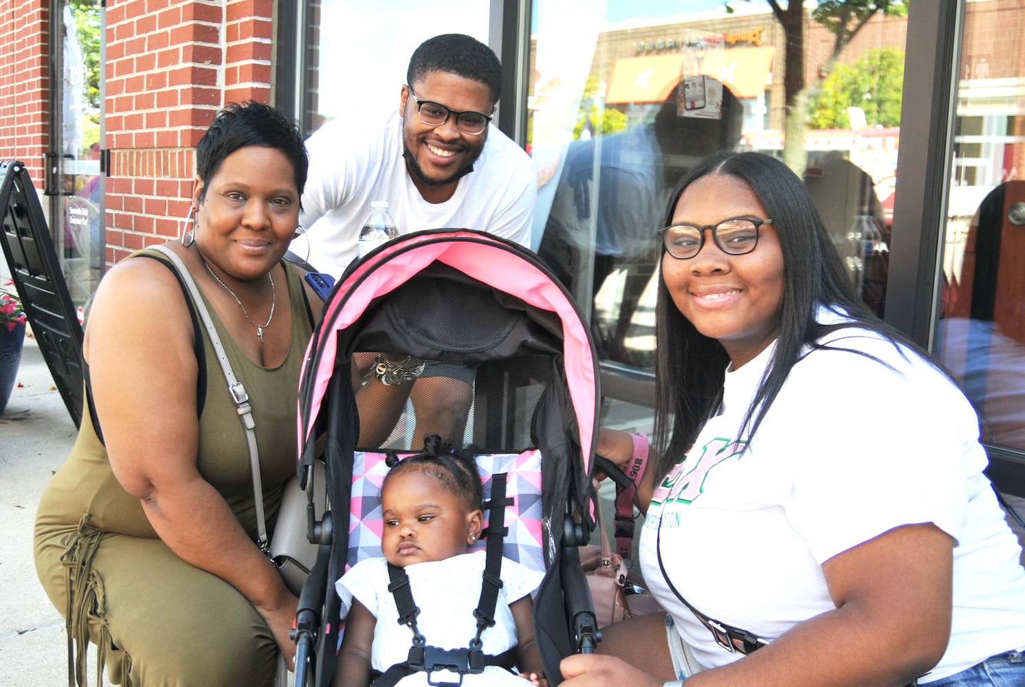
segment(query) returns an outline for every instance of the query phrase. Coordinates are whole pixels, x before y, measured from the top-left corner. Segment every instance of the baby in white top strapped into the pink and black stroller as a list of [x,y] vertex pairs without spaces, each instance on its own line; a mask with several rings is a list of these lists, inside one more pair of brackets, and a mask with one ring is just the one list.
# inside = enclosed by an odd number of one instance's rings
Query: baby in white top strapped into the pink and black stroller
[[[531,599],[544,575],[504,557],[500,572],[491,570],[484,551],[467,553],[484,526],[481,475],[471,455],[445,448],[388,459],[380,490],[383,557],[360,561],[335,583],[348,610],[336,687],[547,684]],[[424,657],[428,665],[464,661],[483,672],[425,672]]]

